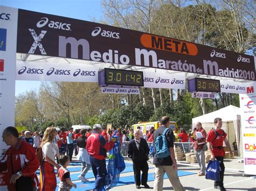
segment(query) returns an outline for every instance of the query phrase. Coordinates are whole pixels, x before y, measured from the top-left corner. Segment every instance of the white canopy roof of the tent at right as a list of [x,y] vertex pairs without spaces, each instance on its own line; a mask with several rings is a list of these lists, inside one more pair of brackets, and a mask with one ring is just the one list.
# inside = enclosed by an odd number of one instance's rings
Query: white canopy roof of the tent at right
[[233,105],[229,105],[225,108],[221,108],[217,111],[213,111],[209,114],[205,114],[199,117],[192,119],[192,123],[201,122],[201,123],[213,123],[216,117],[220,117],[223,122],[237,120],[237,116],[240,115],[240,108]]

